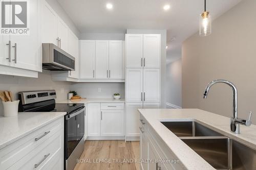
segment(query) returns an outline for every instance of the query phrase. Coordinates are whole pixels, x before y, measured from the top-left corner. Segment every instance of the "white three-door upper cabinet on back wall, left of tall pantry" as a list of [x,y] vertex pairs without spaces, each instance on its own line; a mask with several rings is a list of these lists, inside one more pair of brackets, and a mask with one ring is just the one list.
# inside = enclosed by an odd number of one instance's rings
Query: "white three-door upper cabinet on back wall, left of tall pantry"
[[81,82],[124,82],[122,41],[80,40]]

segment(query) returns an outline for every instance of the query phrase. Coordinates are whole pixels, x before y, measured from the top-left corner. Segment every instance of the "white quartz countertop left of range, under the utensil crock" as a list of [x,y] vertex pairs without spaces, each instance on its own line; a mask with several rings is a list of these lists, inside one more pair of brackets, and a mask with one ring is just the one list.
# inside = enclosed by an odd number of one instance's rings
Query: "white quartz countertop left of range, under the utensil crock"
[[0,149],[66,114],[66,112],[20,112],[15,117],[0,116]]

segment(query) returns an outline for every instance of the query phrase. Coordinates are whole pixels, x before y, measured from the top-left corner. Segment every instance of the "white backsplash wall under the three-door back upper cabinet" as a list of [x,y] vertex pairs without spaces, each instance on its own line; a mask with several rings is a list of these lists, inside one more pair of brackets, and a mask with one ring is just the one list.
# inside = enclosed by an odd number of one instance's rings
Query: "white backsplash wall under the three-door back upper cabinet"
[[[101,88],[101,92],[98,92]],[[124,99],[124,83],[75,83],[71,90],[78,92],[82,98],[113,98],[114,93],[120,93]]]

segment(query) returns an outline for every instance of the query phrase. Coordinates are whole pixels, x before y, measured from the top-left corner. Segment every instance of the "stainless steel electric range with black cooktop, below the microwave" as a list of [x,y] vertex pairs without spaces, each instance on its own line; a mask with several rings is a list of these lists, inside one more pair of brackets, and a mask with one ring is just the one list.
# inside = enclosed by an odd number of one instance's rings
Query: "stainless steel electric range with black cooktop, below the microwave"
[[83,152],[83,104],[56,104],[55,90],[23,91],[18,93],[19,112],[67,112],[64,127],[64,167],[73,169]]

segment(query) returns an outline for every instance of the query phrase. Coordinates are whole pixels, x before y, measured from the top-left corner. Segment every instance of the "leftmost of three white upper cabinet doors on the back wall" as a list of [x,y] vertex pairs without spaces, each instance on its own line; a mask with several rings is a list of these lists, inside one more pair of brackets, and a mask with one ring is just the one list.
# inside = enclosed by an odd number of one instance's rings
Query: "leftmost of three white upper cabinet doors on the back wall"
[[80,40],[80,78],[95,78],[95,41]]

